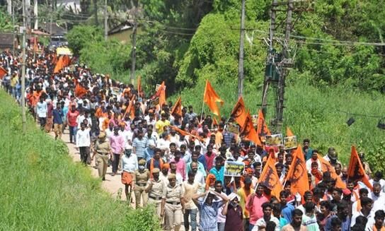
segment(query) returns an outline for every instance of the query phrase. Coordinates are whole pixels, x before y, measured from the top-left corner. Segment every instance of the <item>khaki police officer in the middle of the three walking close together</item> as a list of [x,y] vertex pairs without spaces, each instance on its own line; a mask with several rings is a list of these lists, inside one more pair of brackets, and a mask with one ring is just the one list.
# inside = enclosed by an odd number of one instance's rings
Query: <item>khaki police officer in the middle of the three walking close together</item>
[[153,203],[156,208],[156,215],[158,218],[161,218],[161,200],[163,191],[166,190],[166,184],[163,183],[161,179],[159,179],[159,168],[154,168],[152,170],[153,179],[149,179],[147,182],[146,193],[149,194],[149,203]]

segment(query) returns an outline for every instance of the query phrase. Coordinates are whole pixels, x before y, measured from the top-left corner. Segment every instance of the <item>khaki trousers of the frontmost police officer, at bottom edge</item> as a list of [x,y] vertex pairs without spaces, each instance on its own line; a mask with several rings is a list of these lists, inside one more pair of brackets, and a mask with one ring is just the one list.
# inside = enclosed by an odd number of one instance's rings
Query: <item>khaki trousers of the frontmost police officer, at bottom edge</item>
[[166,220],[166,230],[178,231],[183,223],[182,205],[173,205],[171,203],[165,203],[164,214]]

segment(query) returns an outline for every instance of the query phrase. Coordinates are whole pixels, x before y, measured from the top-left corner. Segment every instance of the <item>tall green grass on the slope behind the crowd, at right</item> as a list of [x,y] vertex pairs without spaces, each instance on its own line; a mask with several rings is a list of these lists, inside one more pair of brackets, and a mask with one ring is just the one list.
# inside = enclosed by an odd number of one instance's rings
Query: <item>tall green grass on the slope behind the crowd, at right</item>
[[[294,75],[293,75],[294,76]],[[219,97],[224,100],[221,108],[222,115],[229,117],[231,109],[237,100],[237,79],[234,81],[216,83],[210,80]],[[339,159],[347,164],[350,158],[350,146],[355,145],[359,150],[367,153],[367,159],[373,167],[384,169],[385,163],[378,161],[379,154],[376,147],[383,146],[385,131],[377,129],[379,118],[358,117],[344,114],[345,111],[355,114],[369,114],[385,116],[385,96],[379,93],[362,93],[343,86],[334,88],[316,88],[305,80],[294,79],[287,81],[284,111],[284,132],[289,126],[299,141],[304,138],[311,139],[311,146],[318,148],[323,153],[328,147],[335,147]],[[195,88],[183,90],[180,93],[183,105],[193,105],[195,112],[202,109],[205,81],[197,81]],[[261,87],[253,86],[246,82],[243,99],[251,114],[256,114],[261,103]],[[175,100],[179,94],[173,95],[169,100]],[[270,95],[272,95],[270,93]],[[270,98],[267,120],[272,119],[274,101]],[[205,112],[209,109],[205,105]],[[355,123],[347,126],[349,117],[355,117]]]

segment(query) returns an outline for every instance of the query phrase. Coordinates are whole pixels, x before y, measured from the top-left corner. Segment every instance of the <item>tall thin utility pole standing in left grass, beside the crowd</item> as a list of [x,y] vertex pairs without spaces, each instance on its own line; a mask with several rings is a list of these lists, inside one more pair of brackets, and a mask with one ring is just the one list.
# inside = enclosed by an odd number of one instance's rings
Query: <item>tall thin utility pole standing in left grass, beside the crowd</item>
[[23,0],[23,57],[21,64],[21,117],[23,122],[23,134],[27,130],[27,117],[25,115],[25,1]]

